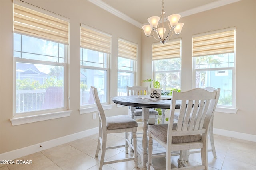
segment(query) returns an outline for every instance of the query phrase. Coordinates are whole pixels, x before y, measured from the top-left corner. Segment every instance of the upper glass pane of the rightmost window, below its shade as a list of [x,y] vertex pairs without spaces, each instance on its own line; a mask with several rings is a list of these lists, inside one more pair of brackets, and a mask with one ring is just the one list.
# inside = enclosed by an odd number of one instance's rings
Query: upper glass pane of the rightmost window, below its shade
[[224,68],[234,66],[234,53],[208,55],[196,58],[196,69]]

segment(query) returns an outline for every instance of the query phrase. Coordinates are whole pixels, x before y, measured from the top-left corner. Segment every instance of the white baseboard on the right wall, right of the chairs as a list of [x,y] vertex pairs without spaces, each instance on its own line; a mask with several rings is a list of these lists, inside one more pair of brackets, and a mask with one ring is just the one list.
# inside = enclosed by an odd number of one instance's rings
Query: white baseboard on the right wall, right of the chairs
[[228,130],[217,129],[217,128],[213,128],[213,133],[216,135],[222,135],[226,137],[232,137],[236,139],[256,142],[256,135],[251,135],[247,133],[240,133],[240,132],[228,131]]

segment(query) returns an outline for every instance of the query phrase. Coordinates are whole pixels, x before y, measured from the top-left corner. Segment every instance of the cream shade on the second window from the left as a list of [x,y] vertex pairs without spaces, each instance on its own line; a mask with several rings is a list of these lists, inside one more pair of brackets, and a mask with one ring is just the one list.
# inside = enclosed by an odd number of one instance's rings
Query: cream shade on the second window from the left
[[111,53],[111,35],[81,24],[81,47]]

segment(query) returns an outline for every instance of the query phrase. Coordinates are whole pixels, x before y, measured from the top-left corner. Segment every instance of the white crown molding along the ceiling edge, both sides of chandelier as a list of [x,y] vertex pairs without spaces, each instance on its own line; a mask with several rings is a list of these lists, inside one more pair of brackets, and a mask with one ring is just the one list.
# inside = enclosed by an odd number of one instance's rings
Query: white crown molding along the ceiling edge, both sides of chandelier
[[[136,27],[142,28],[142,25],[148,24],[148,23],[144,23],[144,24],[139,23],[138,21],[130,18],[126,14],[124,14],[124,13],[116,10],[112,6],[106,4],[102,0],[88,0],[88,1],[95,4],[96,6],[99,6],[100,8],[110,12],[111,14],[114,14],[115,16],[131,23],[132,25],[135,25]],[[179,14],[182,17],[189,16],[189,15],[196,14],[196,13],[199,13],[199,12],[203,12],[203,11],[211,10],[211,9],[214,9],[214,8],[218,8],[220,6],[232,4],[232,3],[238,2],[238,1],[240,1],[240,0],[218,0],[218,1],[212,2],[210,4],[206,4],[206,5],[198,6],[196,8],[190,9],[190,10],[186,10],[186,11],[181,12]]]

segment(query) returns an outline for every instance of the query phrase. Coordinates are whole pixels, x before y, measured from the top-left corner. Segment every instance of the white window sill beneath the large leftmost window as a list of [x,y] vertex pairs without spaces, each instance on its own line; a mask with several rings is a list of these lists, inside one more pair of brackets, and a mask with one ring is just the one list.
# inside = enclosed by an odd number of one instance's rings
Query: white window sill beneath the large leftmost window
[[61,117],[69,117],[72,110],[60,111],[55,113],[46,113],[41,115],[32,115],[32,116],[24,116],[24,117],[14,117],[10,119],[13,126],[22,125],[26,123],[33,123],[37,121],[44,121],[50,119],[57,119]]

